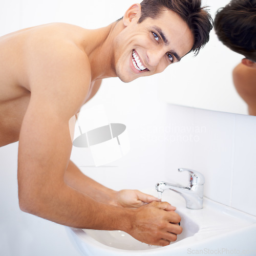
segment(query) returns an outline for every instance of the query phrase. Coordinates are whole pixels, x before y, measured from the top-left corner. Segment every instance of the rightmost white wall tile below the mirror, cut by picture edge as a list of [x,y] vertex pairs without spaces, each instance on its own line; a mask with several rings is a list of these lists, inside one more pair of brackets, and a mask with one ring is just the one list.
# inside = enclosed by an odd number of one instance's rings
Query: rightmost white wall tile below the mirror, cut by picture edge
[[256,216],[256,117],[236,115],[232,207]]

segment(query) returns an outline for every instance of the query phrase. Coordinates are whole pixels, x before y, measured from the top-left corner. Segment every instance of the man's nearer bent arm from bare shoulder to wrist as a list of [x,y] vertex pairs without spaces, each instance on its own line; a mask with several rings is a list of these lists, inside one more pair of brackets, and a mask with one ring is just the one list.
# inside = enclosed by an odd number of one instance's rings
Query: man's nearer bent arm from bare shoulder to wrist
[[[99,228],[103,216],[94,215],[106,205],[64,180],[72,148],[69,119],[79,110],[89,91],[89,62],[75,46],[53,47],[56,42],[48,41],[37,46],[33,40],[29,41],[31,45],[28,42],[25,63],[31,99],[19,137],[20,208],[68,226]],[[111,215],[107,215],[110,219],[104,228],[114,225]]]

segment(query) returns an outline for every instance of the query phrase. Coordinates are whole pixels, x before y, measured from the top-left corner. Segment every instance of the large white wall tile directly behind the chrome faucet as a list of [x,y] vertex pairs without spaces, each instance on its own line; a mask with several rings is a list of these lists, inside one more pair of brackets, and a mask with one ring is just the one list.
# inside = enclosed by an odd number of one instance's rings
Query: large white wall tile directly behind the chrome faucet
[[205,176],[204,195],[230,205],[234,115],[177,105],[167,106],[166,127],[171,142],[165,145],[167,181],[186,184],[180,167]]

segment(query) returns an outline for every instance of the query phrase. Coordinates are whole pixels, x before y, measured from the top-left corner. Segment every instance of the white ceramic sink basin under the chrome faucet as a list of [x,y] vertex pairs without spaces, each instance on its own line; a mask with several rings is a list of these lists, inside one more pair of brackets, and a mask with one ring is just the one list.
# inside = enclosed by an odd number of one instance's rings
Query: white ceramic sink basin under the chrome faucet
[[[145,193],[157,196],[155,189]],[[204,208],[191,210],[172,190],[165,190],[162,201],[177,207],[182,233],[168,246],[139,242],[123,231],[68,228],[83,255],[186,255],[256,254],[256,217],[204,198]],[[201,253],[200,253],[201,250]],[[229,250],[229,251],[228,251]],[[231,251],[232,250],[232,251]],[[236,251],[234,251],[236,250]],[[253,253],[254,250],[254,253]]]

